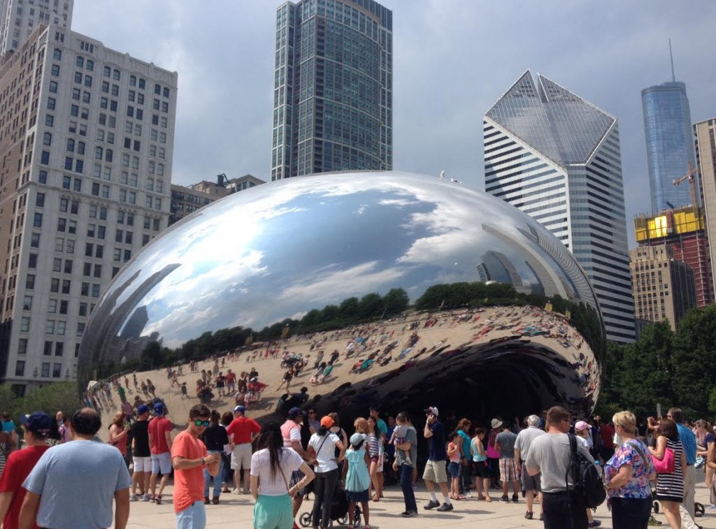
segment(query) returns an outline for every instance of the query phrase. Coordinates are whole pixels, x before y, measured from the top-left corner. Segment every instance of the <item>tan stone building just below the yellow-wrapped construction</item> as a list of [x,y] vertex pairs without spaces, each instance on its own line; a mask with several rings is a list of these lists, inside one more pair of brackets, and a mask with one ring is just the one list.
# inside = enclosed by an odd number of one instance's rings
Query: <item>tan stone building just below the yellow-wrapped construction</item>
[[667,243],[629,251],[634,288],[634,315],[646,321],[669,321],[676,331],[679,319],[696,306],[694,271],[674,259]]

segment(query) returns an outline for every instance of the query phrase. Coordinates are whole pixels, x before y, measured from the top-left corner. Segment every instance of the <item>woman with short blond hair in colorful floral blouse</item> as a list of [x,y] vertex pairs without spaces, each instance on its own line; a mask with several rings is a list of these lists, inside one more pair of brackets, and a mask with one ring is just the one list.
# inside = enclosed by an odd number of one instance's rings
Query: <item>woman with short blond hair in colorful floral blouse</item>
[[637,418],[619,412],[612,418],[616,451],[604,466],[604,486],[609,495],[614,529],[647,529],[652,511],[652,487],[656,478],[647,446],[636,438]]

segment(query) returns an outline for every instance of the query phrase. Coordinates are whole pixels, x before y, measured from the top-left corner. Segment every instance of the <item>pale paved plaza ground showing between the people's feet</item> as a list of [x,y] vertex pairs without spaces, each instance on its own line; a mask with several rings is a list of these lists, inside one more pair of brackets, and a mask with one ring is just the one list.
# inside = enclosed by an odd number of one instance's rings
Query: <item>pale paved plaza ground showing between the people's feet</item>
[[[701,482],[697,485],[697,501],[701,501],[708,505],[708,491],[703,485],[703,474],[700,474]],[[171,492],[171,487],[168,487]],[[165,490],[166,492],[166,490]],[[497,492],[497,491],[495,491]],[[455,510],[452,513],[437,513],[435,511],[427,511],[422,509],[422,505],[427,503],[429,498],[425,488],[420,486],[416,490],[416,498],[420,515],[416,518],[402,518],[400,513],[405,510],[402,501],[400,487],[394,485],[387,487],[385,490],[385,498],[379,502],[370,503],[372,528],[390,528],[390,529],[419,529],[450,527],[450,528],[474,528],[478,526],[489,527],[489,529],[513,529],[513,528],[542,528],[543,524],[538,520],[525,520],[525,504],[523,500],[520,503],[493,503],[478,502],[478,500],[465,500],[454,502]],[[167,496],[165,494],[165,496]],[[499,493],[493,497],[500,498]],[[494,498],[493,498],[494,499]],[[299,511],[304,513],[310,510],[312,501],[304,503]],[[538,511],[538,506],[536,506]],[[253,499],[250,495],[221,495],[220,505],[206,505],[206,518],[208,529],[236,529],[251,528]],[[611,517],[606,506],[601,506],[594,515],[596,520],[601,520],[601,527],[605,529],[611,528]],[[661,520],[664,529],[668,528],[663,515],[657,515],[657,519]],[[707,513],[702,518],[697,518],[697,523],[703,528],[716,529],[716,511],[707,509]],[[164,529],[175,527],[175,517],[173,506],[170,502],[165,501],[163,505],[155,505],[153,503],[136,502],[132,503],[130,510],[130,522],[127,525],[130,529]],[[334,524],[334,527],[338,525]]]

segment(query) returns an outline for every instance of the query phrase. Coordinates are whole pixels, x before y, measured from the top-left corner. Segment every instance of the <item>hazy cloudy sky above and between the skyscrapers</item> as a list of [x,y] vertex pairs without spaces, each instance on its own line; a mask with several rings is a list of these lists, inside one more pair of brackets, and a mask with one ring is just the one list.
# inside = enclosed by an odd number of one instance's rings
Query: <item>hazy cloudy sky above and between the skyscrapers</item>
[[[269,179],[271,0],[76,0],[72,28],[179,73],[173,182]],[[483,188],[482,118],[527,69],[619,119],[633,246],[648,212],[641,90],[687,83],[692,121],[716,117],[711,0],[384,0],[393,11],[394,168]]]

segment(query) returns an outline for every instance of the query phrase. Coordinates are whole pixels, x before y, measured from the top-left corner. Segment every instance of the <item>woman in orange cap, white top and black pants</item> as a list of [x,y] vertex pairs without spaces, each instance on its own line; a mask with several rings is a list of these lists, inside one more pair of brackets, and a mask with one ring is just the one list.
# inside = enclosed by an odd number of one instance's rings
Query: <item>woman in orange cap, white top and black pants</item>
[[[338,463],[343,461],[346,453],[346,447],[339,437],[329,432],[332,426],[333,419],[326,415],[321,419],[321,427],[318,432],[311,435],[311,440],[309,440],[309,457],[316,469],[314,508],[311,513],[314,529],[328,528],[331,520],[333,494],[339,480]],[[339,450],[338,454],[336,454],[336,449]]]

